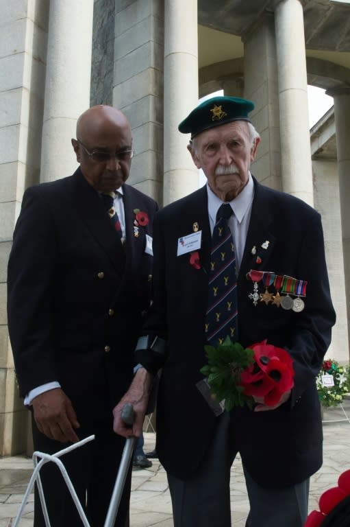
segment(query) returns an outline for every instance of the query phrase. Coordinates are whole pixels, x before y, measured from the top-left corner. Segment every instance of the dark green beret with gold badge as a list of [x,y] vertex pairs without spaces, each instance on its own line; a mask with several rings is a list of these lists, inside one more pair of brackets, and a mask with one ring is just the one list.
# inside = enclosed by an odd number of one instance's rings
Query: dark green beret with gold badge
[[191,138],[204,130],[231,123],[232,121],[248,121],[248,113],[254,109],[254,104],[240,97],[212,97],[202,102],[192,110],[190,115],[179,124],[179,131],[191,134]]

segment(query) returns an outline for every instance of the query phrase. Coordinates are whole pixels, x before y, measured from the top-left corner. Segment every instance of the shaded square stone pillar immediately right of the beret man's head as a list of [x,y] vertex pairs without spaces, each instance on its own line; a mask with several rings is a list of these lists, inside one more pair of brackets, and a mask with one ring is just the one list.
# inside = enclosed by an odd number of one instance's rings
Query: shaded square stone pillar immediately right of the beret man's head
[[281,144],[275,25],[272,13],[255,21],[242,37],[245,45],[245,95],[255,108],[251,120],[262,139],[251,167],[254,176],[268,187],[282,190]]

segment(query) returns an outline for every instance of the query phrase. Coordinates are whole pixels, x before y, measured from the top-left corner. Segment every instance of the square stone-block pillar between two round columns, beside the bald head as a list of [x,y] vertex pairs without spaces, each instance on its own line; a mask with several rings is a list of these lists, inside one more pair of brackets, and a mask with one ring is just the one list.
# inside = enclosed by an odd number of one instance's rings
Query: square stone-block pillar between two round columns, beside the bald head
[[162,205],[164,0],[116,0],[113,106],[132,126],[129,183]]

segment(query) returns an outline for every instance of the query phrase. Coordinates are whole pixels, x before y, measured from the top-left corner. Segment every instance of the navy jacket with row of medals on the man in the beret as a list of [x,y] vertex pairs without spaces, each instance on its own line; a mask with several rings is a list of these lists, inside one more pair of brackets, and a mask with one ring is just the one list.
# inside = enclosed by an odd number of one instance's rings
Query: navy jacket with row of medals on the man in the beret
[[[238,276],[238,340],[247,346],[267,339],[288,349],[294,360],[295,387],[290,400],[277,410],[232,410],[232,441],[257,482],[282,487],[304,480],[322,462],[315,377],[331,340],[335,314],[320,215],[295,197],[254,183]],[[177,257],[179,237],[192,233],[195,222],[202,231],[201,265],[208,269],[211,234],[206,187],[168,205],[155,217],[154,303],[144,333],[151,340],[154,336],[166,340],[166,355],[150,349],[137,352],[137,360],[150,371],[162,367],[157,452],[165,469],[178,478],[189,478],[199,467],[216,422],[196,388],[203,378],[199,370],[206,362],[203,330],[208,274],[190,265],[189,254]],[[258,256],[261,263],[256,261]],[[307,281],[305,309],[296,313],[264,302],[253,305],[249,298],[253,283],[247,279],[251,269]],[[260,292],[264,292],[261,285]]]

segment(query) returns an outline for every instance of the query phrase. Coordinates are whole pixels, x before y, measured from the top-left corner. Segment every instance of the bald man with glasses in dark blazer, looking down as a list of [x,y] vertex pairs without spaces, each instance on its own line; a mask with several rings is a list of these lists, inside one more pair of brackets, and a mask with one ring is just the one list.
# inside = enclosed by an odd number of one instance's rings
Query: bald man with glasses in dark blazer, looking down
[[[34,449],[57,452],[91,527],[101,527],[124,438],[112,408],[133,376],[150,303],[157,204],[125,185],[134,156],[123,113],[94,106],[72,139],[73,176],[25,191],[8,266],[8,325],[16,375],[32,410]],[[55,467],[42,471],[52,527],[82,525]],[[130,473],[115,525],[129,525]],[[45,526],[38,494],[34,526]]]

